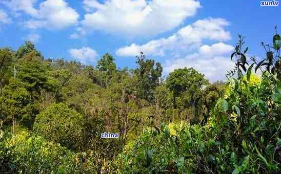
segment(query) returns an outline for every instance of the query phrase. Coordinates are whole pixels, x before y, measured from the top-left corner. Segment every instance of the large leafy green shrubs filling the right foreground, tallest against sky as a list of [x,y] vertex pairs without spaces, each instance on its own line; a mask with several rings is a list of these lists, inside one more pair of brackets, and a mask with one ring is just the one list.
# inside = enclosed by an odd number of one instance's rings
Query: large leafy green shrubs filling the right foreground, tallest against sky
[[[251,70],[243,49],[244,37],[231,58],[236,67],[227,74],[229,94],[219,98],[205,126],[178,126],[173,135],[165,123],[148,130],[135,144],[115,160],[120,173],[279,173],[280,81],[271,53],[262,79],[252,82]],[[242,50],[244,50],[242,52]],[[274,57],[279,56],[275,52]],[[246,75],[243,74],[243,71]],[[177,77],[182,77],[177,72]],[[235,78],[234,74],[238,77]],[[185,73],[183,73],[185,74]],[[172,74],[173,75],[173,74]],[[254,76],[253,76],[254,77]],[[188,82],[169,77],[167,83],[175,94],[183,93]],[[175,85],[178,84],[178,85]],[[184,88],[182,88],[184,86]],[[211,87],[210,87],[211,88]],[[208,91],[208,90],[207,90]],[[216,90],[214,90],[216,91]]]

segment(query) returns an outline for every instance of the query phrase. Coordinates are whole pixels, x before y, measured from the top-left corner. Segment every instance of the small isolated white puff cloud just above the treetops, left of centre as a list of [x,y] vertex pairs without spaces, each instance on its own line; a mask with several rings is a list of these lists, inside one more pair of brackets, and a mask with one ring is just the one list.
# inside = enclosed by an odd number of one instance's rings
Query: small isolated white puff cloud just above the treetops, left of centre
[[72,58],[81,61],[82,63],[94,62],[98,56],[97,52],[90,47],[83,47],[81,49],[70,49],[69,54]]

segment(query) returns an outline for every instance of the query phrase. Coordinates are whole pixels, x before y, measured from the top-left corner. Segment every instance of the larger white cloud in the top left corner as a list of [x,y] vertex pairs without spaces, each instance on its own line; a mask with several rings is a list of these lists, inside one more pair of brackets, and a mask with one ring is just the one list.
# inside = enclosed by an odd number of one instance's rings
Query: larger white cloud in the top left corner
[[24,11],[32,16],[24,25],[30,29],[50,28],[62,29],[75,25],[79,14],[68,6],[64,0],[47,0],[33,8],[35,0],[4,0],[4,4],[11,10]]

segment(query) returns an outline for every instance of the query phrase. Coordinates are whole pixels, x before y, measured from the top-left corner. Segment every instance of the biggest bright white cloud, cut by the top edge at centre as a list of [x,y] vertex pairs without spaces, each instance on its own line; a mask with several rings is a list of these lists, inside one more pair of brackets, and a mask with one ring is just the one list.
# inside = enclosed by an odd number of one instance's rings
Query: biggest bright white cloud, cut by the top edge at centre
[[171,30],[200,8],[195,0],[107,0],[104,4],[84,0],[83,4],[88,12],[82,21],[84,27],[129,36]]

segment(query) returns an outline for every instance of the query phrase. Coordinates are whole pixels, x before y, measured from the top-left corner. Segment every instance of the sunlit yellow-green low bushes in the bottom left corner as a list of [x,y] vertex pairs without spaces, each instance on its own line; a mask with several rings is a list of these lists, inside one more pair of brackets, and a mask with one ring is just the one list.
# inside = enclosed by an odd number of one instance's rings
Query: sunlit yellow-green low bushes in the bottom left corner
[[[77,173],[82,159],[66,147],[21,131],[13,139],[0,142],[2,172],[10,173]],[[1,171],[1,170],[0,170]]]

